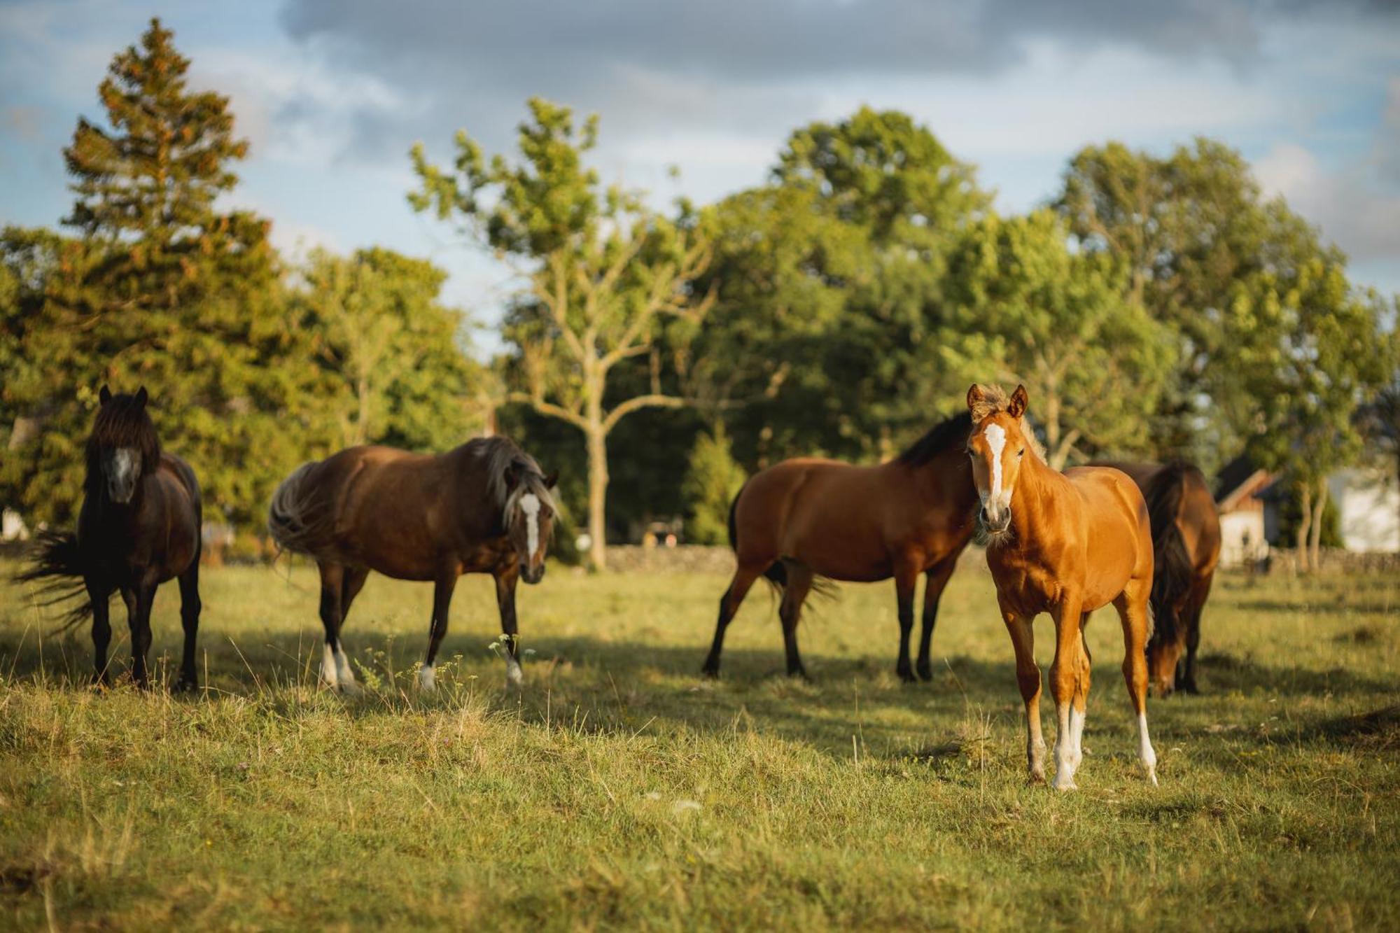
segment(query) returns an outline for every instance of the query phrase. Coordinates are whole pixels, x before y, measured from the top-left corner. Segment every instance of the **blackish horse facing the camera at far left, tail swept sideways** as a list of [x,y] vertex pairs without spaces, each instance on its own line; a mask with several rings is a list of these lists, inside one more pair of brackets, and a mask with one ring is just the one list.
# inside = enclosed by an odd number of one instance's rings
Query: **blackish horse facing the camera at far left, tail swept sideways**
[[[155,590],[179,579],[185,653],[176,691],[199,686],[195,637],[199,633],[199,553],[203,510],[195,471],[161,451],[146,410],[146,387],[134,395],[98,392],[97,417],[87,440],[87,475],[77,532],[42,532],[34,562],[20,580],[49,580],[49,602],[85,593],[66,625],[91,615],[94,682],[111,684],[106,650],[112,642],[109,602],[120,593],[132,629],[132,679],[146,688]],[[73,581],[73,579],[81,579]]]

